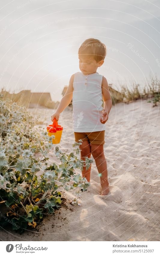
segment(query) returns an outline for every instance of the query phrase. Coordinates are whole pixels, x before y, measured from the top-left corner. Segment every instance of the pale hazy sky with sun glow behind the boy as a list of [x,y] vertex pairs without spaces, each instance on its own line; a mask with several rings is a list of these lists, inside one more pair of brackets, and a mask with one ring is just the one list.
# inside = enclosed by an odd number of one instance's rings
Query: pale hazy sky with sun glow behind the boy
[[146,84],[160,71],[160,1],[14,0],[0,2],[0,88],[50,92],[53,101],[79,72],[87,38],[107,47],[97,69],[116,90]]

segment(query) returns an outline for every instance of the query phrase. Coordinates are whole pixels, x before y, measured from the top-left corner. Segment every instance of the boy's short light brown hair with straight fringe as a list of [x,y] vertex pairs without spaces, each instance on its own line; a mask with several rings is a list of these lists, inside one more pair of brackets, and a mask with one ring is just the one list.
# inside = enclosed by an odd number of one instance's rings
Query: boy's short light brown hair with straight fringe
[[106,46],[98,39],[89,38],[86,39],[78,50],[78,55],[92,55],[93,58],[99,62],[104,60],[106,56]]

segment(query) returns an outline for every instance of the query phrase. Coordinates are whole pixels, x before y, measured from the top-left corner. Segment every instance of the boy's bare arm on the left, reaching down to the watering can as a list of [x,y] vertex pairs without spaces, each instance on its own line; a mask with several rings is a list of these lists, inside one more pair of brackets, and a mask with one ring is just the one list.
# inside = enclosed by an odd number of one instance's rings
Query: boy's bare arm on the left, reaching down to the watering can
[[59,115],[61,112],[63,112],[63,110],[69,105],[69,103],[72,100],[73,97],[73,81],[74,81],[74,74],[71,76],[70,81],[69,81],[69,85],[67,88],[67,91],[65,93],[65,95],[62,97],[62,100],[59,103],[58,108],[56,109],[56,112],[51,116],[51,120],[53,121],[53,119],[56,117],[56,120],[58,121],[59,119]]

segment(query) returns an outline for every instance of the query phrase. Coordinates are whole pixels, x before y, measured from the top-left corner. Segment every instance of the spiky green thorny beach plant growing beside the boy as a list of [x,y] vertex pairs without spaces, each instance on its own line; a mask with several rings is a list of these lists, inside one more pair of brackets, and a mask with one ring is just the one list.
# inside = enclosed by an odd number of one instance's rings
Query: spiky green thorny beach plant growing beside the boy
[[[76,197],[90,185],[75,169],[82,170],[84,165],[88,169],[92,159],[80,159],[81,141],[72,145],[71,153],[63,153],[47,132],[40,126],[37,130],[37,119],[25,107],[4,101],[2,94],[0,108],[0,205],[1,210],[5,208],[0,212],[0,226],[11,225],[22,233],[61,206],[62,191],[78,189]],[[53,149],[61,164],[49,165],[47,154]]]

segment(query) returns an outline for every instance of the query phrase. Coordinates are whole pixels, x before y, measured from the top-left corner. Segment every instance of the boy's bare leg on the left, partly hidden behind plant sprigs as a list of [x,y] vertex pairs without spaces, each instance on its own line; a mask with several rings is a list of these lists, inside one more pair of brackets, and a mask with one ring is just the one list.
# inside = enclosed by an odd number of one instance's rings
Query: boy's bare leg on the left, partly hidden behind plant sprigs
[[[83,141],[82,144],[80,145],[80,159],[85,161],[85,157],[87,156],[88,158],[91,157],[91,146],[89,141]],[[89,169],[86,170],[86,167],[83,167],[82,170],[82,177],[85,177],[88,182],[90,182],[90,176],[91,176],[91,165],[89,166]]]

